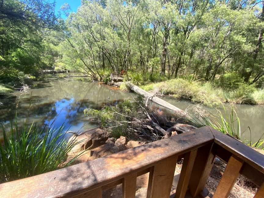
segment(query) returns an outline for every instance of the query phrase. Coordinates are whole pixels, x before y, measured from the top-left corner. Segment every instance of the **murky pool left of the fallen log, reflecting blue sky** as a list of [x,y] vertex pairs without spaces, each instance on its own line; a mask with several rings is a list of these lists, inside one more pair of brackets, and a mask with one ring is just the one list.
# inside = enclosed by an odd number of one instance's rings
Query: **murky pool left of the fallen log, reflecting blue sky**
[[135,94],[124,93],[85,79],[40,82],[26,93],[16,92],[3,99],[0,122],[7,126],[17,113],[18,123],[22,123],[26,118],[29,123],[53,123],[54,127],[64,123],[65,128],[70,127],[71,131],[81,132],[95,127],[86,123],[87,119],[83,114],[85,108],[101,109],[105,104],[134,97]]

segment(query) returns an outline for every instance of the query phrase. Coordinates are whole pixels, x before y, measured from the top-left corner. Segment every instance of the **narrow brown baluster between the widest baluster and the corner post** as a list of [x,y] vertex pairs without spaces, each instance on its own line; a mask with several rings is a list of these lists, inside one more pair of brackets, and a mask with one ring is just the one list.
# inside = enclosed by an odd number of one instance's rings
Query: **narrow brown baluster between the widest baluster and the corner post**
[[185,153],[175,198],[184,198],[190,181],[197,149]]

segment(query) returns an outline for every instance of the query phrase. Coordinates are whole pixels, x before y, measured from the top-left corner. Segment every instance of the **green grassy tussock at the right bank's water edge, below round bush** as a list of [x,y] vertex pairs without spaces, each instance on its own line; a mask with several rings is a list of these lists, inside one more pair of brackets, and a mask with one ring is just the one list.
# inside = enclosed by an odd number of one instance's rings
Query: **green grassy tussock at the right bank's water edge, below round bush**
[[229,102],[237,104],[254,104],[252,94],[256,91],[254,85],[240,83],[237,89],[229,92]]

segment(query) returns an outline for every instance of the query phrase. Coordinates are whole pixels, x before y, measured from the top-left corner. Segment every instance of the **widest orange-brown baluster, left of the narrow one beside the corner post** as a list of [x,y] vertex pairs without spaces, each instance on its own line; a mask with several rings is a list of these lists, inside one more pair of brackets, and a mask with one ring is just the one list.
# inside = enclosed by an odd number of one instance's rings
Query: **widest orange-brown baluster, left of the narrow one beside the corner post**
[[177,157],[166,158],[151,168],[147,198],[168,198],[174,178]]

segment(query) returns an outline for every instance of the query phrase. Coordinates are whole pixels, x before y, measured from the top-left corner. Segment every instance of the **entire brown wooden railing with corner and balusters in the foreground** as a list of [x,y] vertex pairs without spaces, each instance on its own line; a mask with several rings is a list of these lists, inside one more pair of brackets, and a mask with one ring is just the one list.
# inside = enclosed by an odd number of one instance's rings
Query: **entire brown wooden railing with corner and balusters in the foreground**
[[136,179],[149,172],[147,198],[169,197],[178,160],[183,160],[174,197],[187,189],[201,196],[215,157],[227,163],[214,198],[227,197],[240,174],[260,186],[255,198],[264,195],[264,156],[243,143],[210,127],[57,171],[0,185],[1,197],[100,198],[102,191],[123,185],[123,197],[134,198]]

